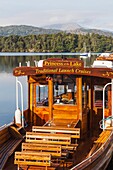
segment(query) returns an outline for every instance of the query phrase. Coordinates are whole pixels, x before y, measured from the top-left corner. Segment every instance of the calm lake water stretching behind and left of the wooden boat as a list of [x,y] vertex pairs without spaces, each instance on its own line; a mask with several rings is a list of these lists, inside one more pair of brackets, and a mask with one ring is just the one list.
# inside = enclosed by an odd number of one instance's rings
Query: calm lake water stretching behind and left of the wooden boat
[[[19,55],[20,54],[20,55]],[[15,77],[13,76],[13,68],[17,67],[19,63],[21,62],[22,65],[26,65],[27,61],[30,61],[30,64],[34,65],[34,60],[40,60],[45,59],[48,56],[36,56],[29,53],[26,56],[24,53],[7,53],[2,54],[0,53],[0,126],[4,124],[8,124],[13,121],[14,112],[16,110],[16,96],[15,96]],[[35,53],[36,54],[36,53]],[[40,54],[40,53],[39,53]],[[7,55],[7,56],[6,56]],[[50,55],[49,57],[53,57],[53,55]],[[57,57],[57,56],[56,56]],[[58,57],[61,57],[59,55]],[[77,57],[71,56],[72,57]],[[91,58],[84,59],[87,65],[91,65],[94,56]],[[24,91],[24,109],[27,108],[27,84],[25,83],[26,77],[19,78],[23,84],[23,91]],[[19,101],[19,107],[20,101]]]

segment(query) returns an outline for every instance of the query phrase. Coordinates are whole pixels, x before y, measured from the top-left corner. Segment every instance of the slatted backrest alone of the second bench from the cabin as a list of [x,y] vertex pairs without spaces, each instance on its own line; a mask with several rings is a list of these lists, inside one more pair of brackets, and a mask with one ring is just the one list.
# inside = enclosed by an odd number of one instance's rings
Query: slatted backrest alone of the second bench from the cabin
[[71,135],[26,132],[26,142],[70,145]]

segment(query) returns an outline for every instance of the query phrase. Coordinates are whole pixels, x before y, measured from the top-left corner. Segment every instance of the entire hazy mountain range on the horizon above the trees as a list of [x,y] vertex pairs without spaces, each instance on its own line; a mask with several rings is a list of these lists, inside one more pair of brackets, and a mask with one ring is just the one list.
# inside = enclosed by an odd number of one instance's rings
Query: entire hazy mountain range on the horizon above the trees
[[4,27],[0,27],[0,36],[55,34],[62,31],[66,33],[73,33],[73,34],[95,33],[95,34],[113,37],[113,32],[99,30],[99,29],[89,29],[89,28],[82,27],[77,23],[54,24],[54,25],[44,26],[43,28],[28,26],[28,25],[4,26]]

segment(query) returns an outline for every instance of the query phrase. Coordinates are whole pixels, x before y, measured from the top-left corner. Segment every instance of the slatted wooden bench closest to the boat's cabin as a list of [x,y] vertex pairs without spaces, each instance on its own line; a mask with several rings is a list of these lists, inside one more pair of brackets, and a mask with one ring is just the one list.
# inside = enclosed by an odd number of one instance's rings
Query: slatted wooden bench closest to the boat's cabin
[[63,128],[63,127],[49,127],[49,126],[33,126],[33,132],[46,132],[46,133],[62,133],[70,134],[71,138],[80,138],[80,128]]

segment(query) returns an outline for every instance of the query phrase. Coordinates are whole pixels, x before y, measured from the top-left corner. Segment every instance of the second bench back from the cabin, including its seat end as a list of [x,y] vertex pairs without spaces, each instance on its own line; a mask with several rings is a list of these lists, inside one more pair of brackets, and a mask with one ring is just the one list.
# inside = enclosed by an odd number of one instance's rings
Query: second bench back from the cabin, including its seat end
[[62,152],[66,150],[75,151],[78,146],[78,144],[71,143],[71,136],[69,134],[26,132],[26,142],[61,145]]

